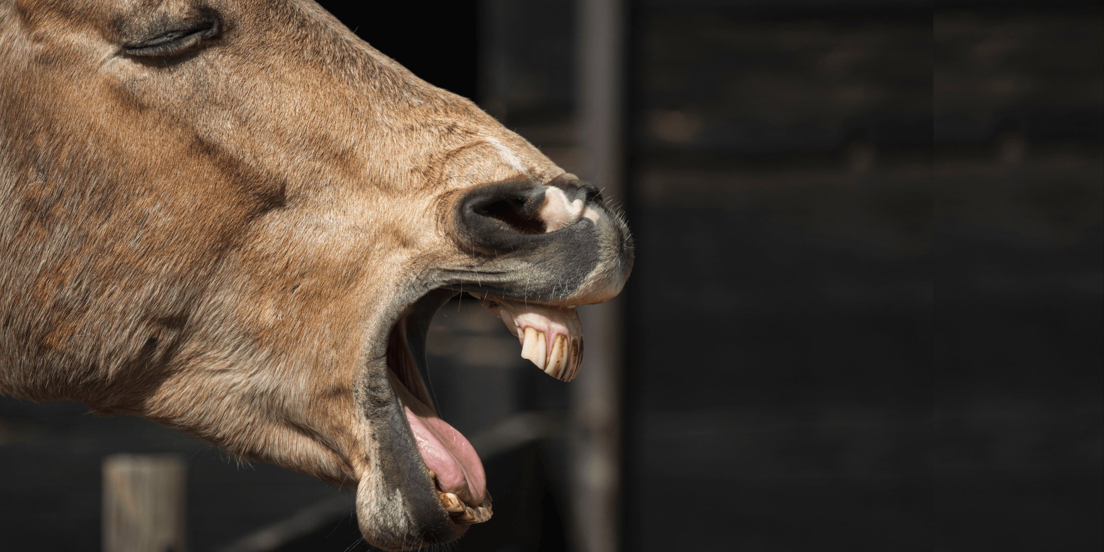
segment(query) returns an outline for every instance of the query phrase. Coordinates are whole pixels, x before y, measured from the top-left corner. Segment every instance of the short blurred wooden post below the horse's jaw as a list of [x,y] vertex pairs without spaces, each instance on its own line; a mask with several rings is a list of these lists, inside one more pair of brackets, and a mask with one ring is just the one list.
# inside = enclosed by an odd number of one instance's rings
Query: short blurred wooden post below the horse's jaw
[[104,458],[104,552],[184,552],[183,459]]

